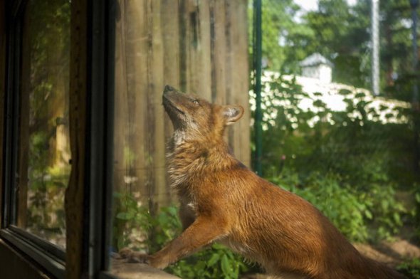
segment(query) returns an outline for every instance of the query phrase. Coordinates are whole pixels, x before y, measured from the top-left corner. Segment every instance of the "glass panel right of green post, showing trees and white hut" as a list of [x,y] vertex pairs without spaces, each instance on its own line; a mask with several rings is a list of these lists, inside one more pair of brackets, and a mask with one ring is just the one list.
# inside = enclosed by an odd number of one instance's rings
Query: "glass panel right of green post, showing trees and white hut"
[[262,16],[263,177],[407,269],[420,255],[414,2],[263,0]]

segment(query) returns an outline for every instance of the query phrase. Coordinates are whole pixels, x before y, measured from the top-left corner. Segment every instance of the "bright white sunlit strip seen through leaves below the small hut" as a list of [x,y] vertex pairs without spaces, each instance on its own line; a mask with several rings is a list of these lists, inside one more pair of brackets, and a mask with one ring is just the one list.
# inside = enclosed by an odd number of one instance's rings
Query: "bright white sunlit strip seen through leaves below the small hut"
[[[261,92],[262,107],[263,107],[263,120],[275,125],[275,119],[277,116],[277,109],[275,107],[285,107],[288,109],[294,109],[294,105],[288,100],[282,98],[273,98],[280,92],[273,92],[269,86],[273,80],[277,80],[280,73],[271,71],[264,71],[261,80],[263,82],[263,88]],[[404,114],[400,114],[399,110],[407,109],[410,104],[400,100],[392,100],[388,98],[382,98],[372,95],[372,93],[364,88],[355,88],[351,85],[345,85],[342,83],[327,83],[320,80],[320,78],[308,78],[303,76],[283,75],[283,80],[295,80],[295,83],[302,86],[302,90],[307,94],[307,97],[301,98],[298,102],[298,108],[303,111],[320,112],[322,109],[315,105],[315,102],[321,101],[325,104],[328,110],[332,112],[345,112],[349,101],[353,105],[357,105],[358,102],[363,101],[364,110],[367,111],[367,118],[374,122],[382,123],[406,123],[408,119]],[[342,91],[346,91],[343,94]],[[255,110],[256,103],[253,98],[253,92],[250,92],[250,104],[251,110]],[[360,119],[362,116],[358,112],[349,113],[348,116],[353,119]],[[298,127],[298,118],[290,115],[288,116],[290,122],[293,122],[293,127]],[[330,122],[332,121],[332,114],[328,113],[323,120],[315,116],[308,124],[312,127],[318,121]],[[267,125],[263,126],[263,130],[267,130]]]

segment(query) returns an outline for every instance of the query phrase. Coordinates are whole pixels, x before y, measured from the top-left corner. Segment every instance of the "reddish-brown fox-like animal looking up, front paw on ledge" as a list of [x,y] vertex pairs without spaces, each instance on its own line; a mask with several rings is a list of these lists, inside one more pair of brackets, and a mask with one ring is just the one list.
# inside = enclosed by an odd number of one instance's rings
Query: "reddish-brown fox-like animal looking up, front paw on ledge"
[[241,105],[218,105],[169,85],[162,103],[174,127],[167,172],[183,231],[153,255],[124,248],[122,258],[163,269],[217,242],[273,278],[405,278],[362,256],[315,206],[233,156],[224,131],[242,117]]

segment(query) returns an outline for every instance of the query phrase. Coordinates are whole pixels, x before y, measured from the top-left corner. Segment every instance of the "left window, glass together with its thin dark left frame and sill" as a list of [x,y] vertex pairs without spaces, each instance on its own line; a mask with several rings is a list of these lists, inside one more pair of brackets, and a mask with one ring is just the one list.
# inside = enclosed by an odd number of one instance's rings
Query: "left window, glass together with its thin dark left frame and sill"
[[1,236],[63,276],[70,177],[70,1],[10,7]]

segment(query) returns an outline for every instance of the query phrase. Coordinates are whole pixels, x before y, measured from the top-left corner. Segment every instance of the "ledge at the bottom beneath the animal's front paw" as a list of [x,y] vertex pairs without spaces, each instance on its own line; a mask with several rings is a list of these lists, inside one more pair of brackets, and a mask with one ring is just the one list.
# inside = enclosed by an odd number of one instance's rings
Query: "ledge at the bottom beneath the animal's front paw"
[[112,275],[121,279],[179,279],[174,275],[152,268],[144,263],[127,263],[125,260],[112,259]]

